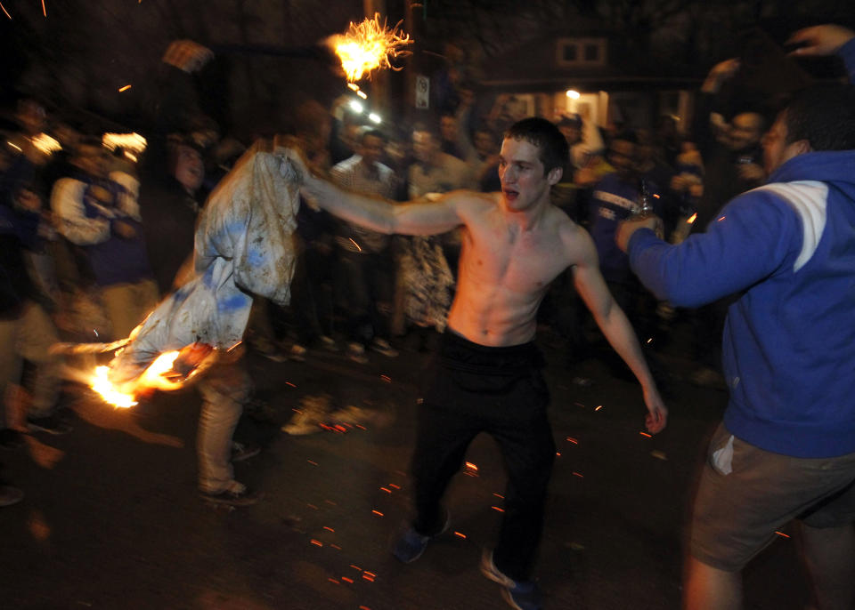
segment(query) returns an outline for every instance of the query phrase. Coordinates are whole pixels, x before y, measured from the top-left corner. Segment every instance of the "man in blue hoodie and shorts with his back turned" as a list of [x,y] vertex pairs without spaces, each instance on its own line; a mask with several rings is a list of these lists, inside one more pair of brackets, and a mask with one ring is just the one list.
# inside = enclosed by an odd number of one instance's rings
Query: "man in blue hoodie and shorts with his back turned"
[[[855,32],[807,28],[802,55]],[[741,570],[800,519],[818,607],[855,600],[855,87],[798,92],[766,134],[769,182],[734,198],[680,245],[649,221],[617,242],[657,296],[697,307],[738,293],[724,328],[730,390],[691,524],[685,606],[742,607]]]

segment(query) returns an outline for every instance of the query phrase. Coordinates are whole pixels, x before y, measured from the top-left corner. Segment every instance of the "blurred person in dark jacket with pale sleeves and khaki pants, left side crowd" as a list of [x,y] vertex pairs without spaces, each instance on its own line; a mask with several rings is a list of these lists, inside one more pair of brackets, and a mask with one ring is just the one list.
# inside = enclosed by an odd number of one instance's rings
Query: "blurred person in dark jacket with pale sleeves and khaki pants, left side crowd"
[[83,248],[113,339],[128,336],[158,302],[138,202],[139,181],[108,173],[100,140],[80,143],[74,178],[53,186],[51,207],[59,233]]

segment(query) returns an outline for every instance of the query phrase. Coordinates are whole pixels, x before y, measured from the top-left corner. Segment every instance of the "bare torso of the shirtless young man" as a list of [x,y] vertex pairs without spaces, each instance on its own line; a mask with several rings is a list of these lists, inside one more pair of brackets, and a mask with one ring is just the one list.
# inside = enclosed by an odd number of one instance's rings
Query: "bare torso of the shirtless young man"
[[501,209],[499,194],[478,197],[467,208],[448,327],[486,346],[531,341],[550,282],[574,264],[567,241],[579,229],[552,205],[526,229],[519,214]]

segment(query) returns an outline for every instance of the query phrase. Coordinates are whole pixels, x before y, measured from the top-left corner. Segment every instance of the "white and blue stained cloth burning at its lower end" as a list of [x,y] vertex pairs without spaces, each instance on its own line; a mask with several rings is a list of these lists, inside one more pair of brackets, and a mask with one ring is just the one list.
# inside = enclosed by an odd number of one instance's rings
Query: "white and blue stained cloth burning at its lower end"
[[256,142],[216,187],[199,219],[194,275],[131,333],[110,363],[110,381],[134,381],[162,352],[241,341],[252,295],[281,305],[294,275],[299,174],[284,150]]

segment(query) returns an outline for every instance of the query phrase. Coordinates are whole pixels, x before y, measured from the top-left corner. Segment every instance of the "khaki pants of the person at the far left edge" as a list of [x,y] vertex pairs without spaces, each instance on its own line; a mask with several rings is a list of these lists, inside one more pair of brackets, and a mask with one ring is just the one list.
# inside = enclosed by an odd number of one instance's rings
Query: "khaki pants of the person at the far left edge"
[[[33,401],[29,415],[50,415],[60,394],[61,359],[48,354],[53,343],[60,341],[51,318],[41,305],[28,302],[20,316],[11,320],[0,320],[0,428],[20,428],[22,414],[7,413],[7,395],[13,384],[20,383],[23,361],[36,365],[32,383]],[[17,415],[17,416],[16,416]]]

